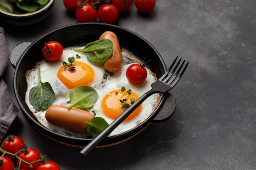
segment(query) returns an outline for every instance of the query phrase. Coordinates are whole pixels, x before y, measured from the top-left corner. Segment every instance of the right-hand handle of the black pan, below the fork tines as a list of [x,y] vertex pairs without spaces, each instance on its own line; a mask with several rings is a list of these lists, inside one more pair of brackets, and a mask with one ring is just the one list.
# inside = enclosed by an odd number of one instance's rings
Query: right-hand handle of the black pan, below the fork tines
[[173,95],[171,95],[170,93],[166,93],[166,95],[166,99],[165,101],[163,101],[164,104],[162,105],[161,108],[158,108],[158,113],[151,120],[152,122],[163,122],[170,119],[173,116],[176,109],[176,101]]

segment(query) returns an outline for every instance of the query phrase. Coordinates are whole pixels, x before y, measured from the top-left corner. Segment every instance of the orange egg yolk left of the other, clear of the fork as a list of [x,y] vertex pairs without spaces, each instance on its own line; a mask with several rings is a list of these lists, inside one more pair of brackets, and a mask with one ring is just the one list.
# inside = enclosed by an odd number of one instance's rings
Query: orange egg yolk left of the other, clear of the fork
[[68,71],[68,66],[65,66],[65,71],[64,66],[61,66],[58,70],[58,79],[67,88],[72,89],[81,85],[89,85],[93,81],[94,71],[88,64],[76,61],[72,66],[75,67],[74,71]]

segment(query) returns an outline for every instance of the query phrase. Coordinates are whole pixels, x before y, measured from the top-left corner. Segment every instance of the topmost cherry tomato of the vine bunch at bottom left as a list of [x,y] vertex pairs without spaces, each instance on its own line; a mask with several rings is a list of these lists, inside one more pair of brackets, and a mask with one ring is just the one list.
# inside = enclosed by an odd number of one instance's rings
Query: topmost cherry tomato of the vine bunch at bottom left
[[[24,148],[25,148],[24,141],[20,137],[13,136],[13,135],[8,136],[7,140],[2,145],[3,150],[13,153],[13,154],[17,153],[18,151],[20,151]],[[13,157],[11,155],[6,155],[6,156],[11,159],[15,159],[15,157]]]

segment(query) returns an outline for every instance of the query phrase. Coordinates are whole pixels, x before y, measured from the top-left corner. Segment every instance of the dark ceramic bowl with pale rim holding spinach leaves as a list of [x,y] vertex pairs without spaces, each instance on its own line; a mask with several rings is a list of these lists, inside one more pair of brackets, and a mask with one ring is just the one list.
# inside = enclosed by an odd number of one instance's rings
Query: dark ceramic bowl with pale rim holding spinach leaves
[[[12,11],[12,5],[8,2],[8,0],[3,0],[0,2],[5,6],[9,7]],[[26,14],[12,14],[2,11],[0,9],[0,17],[1,20],[12,25],[25,26],[35,24],[43,20],[51,11],[54,4],[54,0],[49,0],[47,5],[42,9],[34,12],[34,13],[26,13]]]

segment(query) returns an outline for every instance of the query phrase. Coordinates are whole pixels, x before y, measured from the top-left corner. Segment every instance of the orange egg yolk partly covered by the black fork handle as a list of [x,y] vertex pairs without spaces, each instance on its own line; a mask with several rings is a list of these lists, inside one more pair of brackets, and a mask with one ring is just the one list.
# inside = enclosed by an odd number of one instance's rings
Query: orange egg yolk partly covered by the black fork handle
[[[123,94],[121,90],[115,90],[111,91],[109,94],[105,95],[105,97],[102,99],[101,102],[101,108],[103,109],[103,113],[108,116],[110,119],[116,119],[121,115],[125,110],[122,110],[122,105],[124,103],[121,103],[120,100],[127,99],[127,104],[130,104],[130,98],[134,98],[135,102],[139,98],[138,95],[135,93],[125,94],[119,99],[119,97]],[[130,114],[124,121],[130,121],[133,118],[135,118],[137,115],[139,115],[139,112],[141,110],[141,105],[137,107],[132,114]]]

